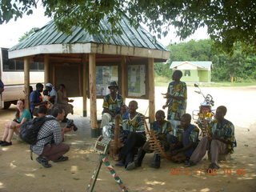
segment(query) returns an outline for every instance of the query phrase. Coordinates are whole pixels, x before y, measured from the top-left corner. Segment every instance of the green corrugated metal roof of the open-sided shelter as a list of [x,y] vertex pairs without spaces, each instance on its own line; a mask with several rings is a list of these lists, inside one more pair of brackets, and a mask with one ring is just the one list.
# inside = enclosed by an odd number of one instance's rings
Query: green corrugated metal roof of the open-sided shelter
[[[103,19],[100,22],[100,27],[103,29],[110,29],[110,23],[108,23],[106,19]],[[16,46],[10,48],[9,51],[22,50],[27,47],[41,45],[86,42],[168,51],[160,42],[154,41],[153,36],[148,31],[143,29],[142,26],[138,26],[137,29],[135,29],[134,26],[130,26],[129,20],[125,15],[123,16],[122,20],[118,22],[118,27],[122,29],[122,34],[112,35],[109,42],[107,42],[103,34],[89,34],[81,27],[73,27],[73,34],[71,35],[59,32],[54,24],[54,21],[50,21],[46,24],[46,26],[43,26],[40,30],[34,32],[34,34],[31,34],[28,38],[25,38],[22,42],[19,42]]]

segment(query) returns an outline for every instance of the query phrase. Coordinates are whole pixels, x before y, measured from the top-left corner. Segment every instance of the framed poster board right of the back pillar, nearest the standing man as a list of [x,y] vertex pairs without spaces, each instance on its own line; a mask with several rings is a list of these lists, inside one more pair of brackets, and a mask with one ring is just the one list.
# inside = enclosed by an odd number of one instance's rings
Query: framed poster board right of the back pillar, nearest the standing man
[[146,95],[146,66],[128,66],[128,97]]

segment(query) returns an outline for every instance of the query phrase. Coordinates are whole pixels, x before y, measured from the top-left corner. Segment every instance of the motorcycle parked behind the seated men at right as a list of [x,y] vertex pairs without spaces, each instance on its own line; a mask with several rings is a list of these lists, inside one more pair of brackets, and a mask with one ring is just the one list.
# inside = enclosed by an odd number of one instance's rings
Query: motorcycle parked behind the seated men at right
[[212,106],[214,106],[213,97],[210,94],[203,94],[198,83],[194,83],[194,86],[198,88],[194,92],[197,94],[202,94],[204,101],[200,103],[199,110],[193,110],[192,116],[198,127],[201,129],[202,137],[207,134],[207,126],[214,118],[214,110],[212,110]]

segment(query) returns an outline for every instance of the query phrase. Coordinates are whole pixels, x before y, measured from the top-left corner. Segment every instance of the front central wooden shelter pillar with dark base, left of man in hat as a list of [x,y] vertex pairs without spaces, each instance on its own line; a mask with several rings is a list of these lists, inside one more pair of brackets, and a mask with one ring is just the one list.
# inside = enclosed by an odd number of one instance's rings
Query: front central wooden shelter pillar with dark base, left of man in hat
[[90,83],[90,127],[91,137],[98,137],[97,104],[96,104],[96,54],[89,54],[89,83]]

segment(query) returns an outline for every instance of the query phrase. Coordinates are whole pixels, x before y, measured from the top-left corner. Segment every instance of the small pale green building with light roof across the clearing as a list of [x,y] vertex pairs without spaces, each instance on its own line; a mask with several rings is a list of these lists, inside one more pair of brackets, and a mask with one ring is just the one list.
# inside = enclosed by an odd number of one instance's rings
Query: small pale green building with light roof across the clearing
[[172,62],[170,69],[182,70],[182,82],[210,82],[212,62]]

